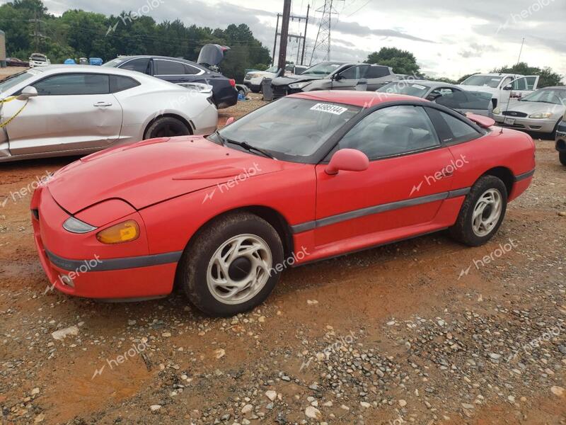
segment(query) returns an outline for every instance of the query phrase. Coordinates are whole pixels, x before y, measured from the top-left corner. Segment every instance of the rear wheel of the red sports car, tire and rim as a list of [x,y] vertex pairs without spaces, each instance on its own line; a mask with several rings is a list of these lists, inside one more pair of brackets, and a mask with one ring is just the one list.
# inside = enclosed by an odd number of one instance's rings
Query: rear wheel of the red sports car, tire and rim
[[[504,183],[495,176],[480,177],[466,196],[456,224],[449,229],[450,234],[462,244],[483,245],[499,229],[506,210],[507,188]],[[476,225],[473,224],[475,211],[480,213],[475,219]],[[484,223],[483,226],[478,226],[480,222]]]

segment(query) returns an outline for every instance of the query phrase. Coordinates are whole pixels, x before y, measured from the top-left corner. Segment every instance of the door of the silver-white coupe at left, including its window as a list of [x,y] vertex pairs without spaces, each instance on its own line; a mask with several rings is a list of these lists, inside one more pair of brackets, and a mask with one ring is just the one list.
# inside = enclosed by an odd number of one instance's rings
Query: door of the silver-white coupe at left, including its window
[[122,107],[108,74],[55,74],[32,86],[37,97],[6,127],[11,154],[100,149],[120,137]]

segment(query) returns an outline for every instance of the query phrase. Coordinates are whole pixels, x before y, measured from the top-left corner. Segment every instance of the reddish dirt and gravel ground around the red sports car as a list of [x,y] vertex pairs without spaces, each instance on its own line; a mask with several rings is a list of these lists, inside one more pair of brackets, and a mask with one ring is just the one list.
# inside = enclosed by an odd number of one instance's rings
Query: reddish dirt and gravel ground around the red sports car
[[[566,424],[566,167],[536,145],[535,181],[489,244],[439,233],[294,268],[232,319],[178,293],[107,304],[49,290],[29,196],[7,198],[2,423]],[[0,194],[71,160],[2,164]]]

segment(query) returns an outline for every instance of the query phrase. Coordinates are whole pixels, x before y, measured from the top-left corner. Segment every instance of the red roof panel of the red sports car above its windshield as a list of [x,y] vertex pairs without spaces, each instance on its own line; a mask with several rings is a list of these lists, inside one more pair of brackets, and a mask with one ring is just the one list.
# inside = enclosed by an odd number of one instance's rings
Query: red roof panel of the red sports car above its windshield
[[392,101],[420,101],[423,103],[427,102],[422,98],[417,98],[415,96],[405,96],[404,94],[389,94],[378,93],[376,91],[354,90],[306,91],[304,93],[291,94],[288,97],[303,98],[311,101],[345,103],[346,105],[360,106],[362,108]]

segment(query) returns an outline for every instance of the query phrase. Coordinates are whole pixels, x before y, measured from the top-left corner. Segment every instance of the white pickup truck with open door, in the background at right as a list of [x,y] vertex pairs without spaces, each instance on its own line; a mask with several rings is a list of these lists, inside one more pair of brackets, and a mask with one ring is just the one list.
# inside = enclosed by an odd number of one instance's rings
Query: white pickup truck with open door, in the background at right
[[538,75],[473,74],[459,86],[466,90],[492,94],[493,107],[516,101],[537,89]]

